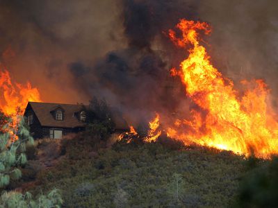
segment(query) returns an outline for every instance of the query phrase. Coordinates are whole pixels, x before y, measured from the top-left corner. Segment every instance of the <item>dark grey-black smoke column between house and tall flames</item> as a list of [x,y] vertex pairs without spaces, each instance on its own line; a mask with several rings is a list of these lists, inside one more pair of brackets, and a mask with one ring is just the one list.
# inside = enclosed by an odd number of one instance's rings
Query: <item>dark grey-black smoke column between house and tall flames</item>
[[194,8],[181,8],[180,4],[166,0],[123,1],[126,47],[109,51],[90,66],[72,62],[69,69],[76,77],[76,87],[89,96],[103,96],[134,120],[154,112],[173,112],[182,100],[183,90],[169,76],[172,62],[167,58],[171,53],[174,56],[175,50],[167,46],[165,33],[179,18],[196,16]]

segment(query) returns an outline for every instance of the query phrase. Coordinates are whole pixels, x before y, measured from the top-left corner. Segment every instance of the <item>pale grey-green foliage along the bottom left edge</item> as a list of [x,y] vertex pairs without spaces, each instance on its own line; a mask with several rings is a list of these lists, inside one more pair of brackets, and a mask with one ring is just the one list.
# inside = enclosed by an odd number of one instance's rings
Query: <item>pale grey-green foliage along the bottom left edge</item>
[[58,190],[50,191],[47,196],[41,195],[33,199],[31,193],[19,193],[16,191],[4,192],[0,198],[0,207],[6,208],[51,208],[60,207],[63,200]]

